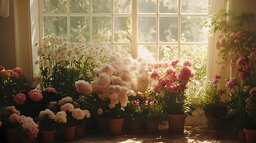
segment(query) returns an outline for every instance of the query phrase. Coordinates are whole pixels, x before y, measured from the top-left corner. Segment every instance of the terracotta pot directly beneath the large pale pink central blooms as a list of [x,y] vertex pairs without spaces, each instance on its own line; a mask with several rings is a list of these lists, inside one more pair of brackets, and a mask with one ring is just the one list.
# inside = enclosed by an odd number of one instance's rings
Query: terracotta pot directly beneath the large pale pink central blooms
[[109,130],[112,135],[121,135],[124,119],[109,119]]

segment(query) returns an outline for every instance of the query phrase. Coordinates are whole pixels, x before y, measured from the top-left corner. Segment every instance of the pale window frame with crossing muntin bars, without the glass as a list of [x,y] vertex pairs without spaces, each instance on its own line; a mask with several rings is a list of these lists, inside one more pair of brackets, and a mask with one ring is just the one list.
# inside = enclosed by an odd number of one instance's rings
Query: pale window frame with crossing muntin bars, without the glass
[[[107,43],[115,48],[116,45],[130,45],[131,46],[131,55],[133,58],[137,58],[137,48],[140,45],[155,45],[156,46],[156,55],[157,60],[159,61],[159,46],[163,45],[177,45],[178,48],[178,58],[181,58],[181,46],[183,45],[208,45],[208,42],[182,42],[181,41],[181,17],[208,17],[209,16],[209,8],[207,14],[183,14],[181,13],[181,1],[178,1],[178,13],[177,14],[161,14],[159,13],[159,0],[156,0],[156,13],[155,14],[138,14],[137,13],[137,0],[131,0],[132,11],[131,14],[114,14],[114,2],[112,3],[112,12],[111,14],[93,14],[92,13],[92,1],[89,0],[89,13],[88,14],[70,14],[69,13],[69,0],[67,0],[67,14],[63,13],[43,13],[43,0],[39,0],[38,10],[39,10],[39,35],[44,36],[44,17],[45,16],[64,16],[67,17],[67,38],[70,37],[70,17],[90,17],[90,41],[92,41],[92,17],[111,17],[111,33],[112,38],[110,43]],[[209,7],[209,0],[208,0]],[[132,33],[132,41],[131,43],[116,43],[113,32],[114,29],[114,18],[115,17],[131,17],[131,33]],[[156,17],[156,42],[138,42],[138,17]],[[159,17],[178,17],[178,41],[177,42],[159,42]],[[39,43],[42,42],[42,38],[39,38]]]

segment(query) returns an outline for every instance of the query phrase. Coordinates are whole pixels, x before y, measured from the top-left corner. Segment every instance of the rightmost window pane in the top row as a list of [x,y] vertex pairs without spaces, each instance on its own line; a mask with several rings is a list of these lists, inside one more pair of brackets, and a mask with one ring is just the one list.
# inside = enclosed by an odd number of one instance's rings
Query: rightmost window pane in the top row
[[181,13],[208,14],[208,0],[181,0]]

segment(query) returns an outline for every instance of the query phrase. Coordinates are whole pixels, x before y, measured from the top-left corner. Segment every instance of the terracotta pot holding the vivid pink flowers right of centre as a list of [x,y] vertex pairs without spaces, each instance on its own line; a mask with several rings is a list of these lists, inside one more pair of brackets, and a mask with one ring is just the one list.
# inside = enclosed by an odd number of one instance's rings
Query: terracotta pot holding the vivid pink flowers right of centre
[[171,131],[183,131],[185,126],[185,119],[187,114],[167,114],[169,130]]

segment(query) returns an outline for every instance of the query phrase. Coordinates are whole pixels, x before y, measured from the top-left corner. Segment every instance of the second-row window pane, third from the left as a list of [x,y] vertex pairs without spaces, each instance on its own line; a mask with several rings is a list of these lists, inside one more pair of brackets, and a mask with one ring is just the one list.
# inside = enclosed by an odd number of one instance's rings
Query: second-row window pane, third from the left
[[92,39],[110,42],[111,17],[92,17]]

